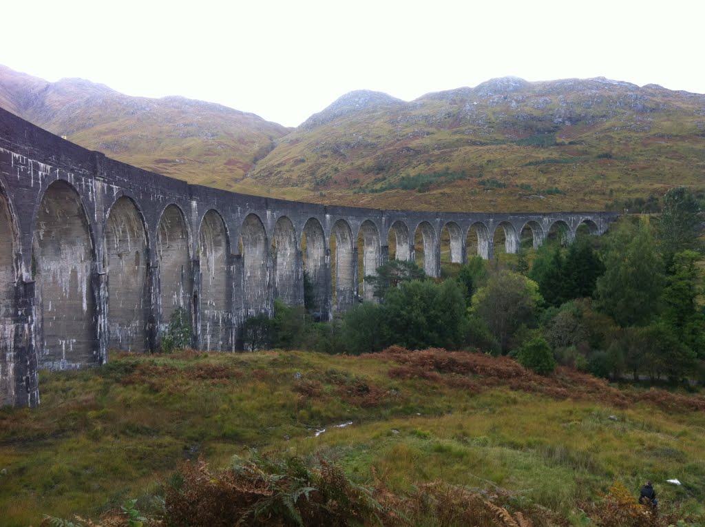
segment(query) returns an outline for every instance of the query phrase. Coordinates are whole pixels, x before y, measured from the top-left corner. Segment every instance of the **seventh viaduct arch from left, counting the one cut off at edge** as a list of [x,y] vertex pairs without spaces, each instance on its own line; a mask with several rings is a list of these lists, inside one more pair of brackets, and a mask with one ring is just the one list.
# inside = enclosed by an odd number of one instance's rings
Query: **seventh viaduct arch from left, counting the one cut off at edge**
[[303,290],[298,236],[288,217],[282,216],[276,220],[271,247],[274,260],[274,298],[281,298],[286,305],[301,305]]

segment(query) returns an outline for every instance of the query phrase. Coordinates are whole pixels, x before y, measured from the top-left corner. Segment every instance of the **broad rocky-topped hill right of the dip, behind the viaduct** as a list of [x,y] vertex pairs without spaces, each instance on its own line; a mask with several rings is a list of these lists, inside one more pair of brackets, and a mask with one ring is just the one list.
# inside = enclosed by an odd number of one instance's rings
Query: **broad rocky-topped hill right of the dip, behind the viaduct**
[[345,205],[600,210],[705,190],[705,95],[605,78],[500,78],[412,102],[353,92],[278,140],[251,178]]

